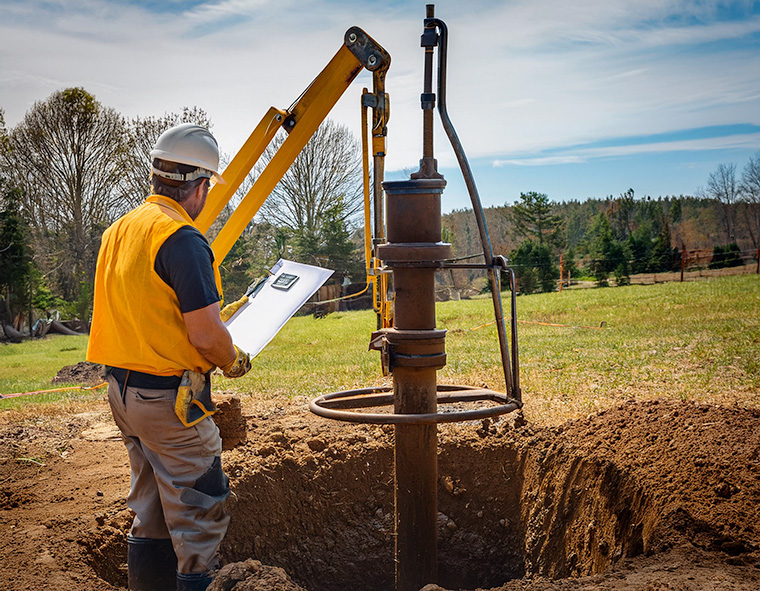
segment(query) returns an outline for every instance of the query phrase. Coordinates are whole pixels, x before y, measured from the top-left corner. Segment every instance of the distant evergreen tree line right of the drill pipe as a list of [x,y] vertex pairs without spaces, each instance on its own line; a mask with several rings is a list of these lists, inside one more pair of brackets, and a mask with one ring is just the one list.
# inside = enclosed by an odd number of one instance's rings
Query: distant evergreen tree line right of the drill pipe
[[[760,248],[760,152],[740,176],[735,164],[719,165],[693,197],[637,199],[628,189],[617,198],[553,202],[531,191],[489,209],[494,250],[508,254],[522,293],[556,289],[560,264],[563,279],[589,277],[600,286],[613,277],[625,285],[632,274],[678,270],[695,250],[712,251],[699,261],[706,267],[739,265],[742,253],[754,258]],[[458,256],[479,250],[473,223],[466,211],[444,217]],[[448,282],[472,284],[472,272],[458,273]]]

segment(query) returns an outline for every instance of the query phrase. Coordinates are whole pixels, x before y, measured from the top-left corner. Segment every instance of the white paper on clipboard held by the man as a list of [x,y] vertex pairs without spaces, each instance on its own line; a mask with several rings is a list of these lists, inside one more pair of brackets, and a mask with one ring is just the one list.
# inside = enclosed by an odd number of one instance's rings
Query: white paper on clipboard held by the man
[[[256,357],[269,344],[285,323],[298,312],[314,293],[322,287],[333,271],[280,259],[272,267],[272,275],[248,303],[244,304],[227,322],[232,342],[251,357]],[[286,289],[273,284],[283,274],[295,275]]]

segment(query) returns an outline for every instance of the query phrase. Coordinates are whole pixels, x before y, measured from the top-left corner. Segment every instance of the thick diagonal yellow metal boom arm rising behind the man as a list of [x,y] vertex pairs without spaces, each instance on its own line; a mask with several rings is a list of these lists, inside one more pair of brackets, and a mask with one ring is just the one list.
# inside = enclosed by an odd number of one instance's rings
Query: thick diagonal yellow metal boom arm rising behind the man
[[287,139],[211,244],[217,261],[224,259],[362,68],[372,71],[377,80],[384,79],[389,65],[390,55],[364,31],[352,27],[346,32],[343,46],[293,106],[287,111],[275,108],[269,110],[222,173],[226,184],[216,185],[209,192],[206,207],[196,220],[202,232],[208,230],[261,157],[277,130],[283,127],[289,134]]

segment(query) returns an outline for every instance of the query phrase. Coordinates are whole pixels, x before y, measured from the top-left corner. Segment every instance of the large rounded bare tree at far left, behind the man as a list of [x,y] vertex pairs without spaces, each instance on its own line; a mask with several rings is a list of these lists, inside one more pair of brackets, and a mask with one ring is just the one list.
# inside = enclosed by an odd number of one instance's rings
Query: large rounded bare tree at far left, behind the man
[[37,260],[67,300],[91,283],[104,228],[121,209],[124,119],[82,88],[35,103],[7,136],[3,166],[23,190]]

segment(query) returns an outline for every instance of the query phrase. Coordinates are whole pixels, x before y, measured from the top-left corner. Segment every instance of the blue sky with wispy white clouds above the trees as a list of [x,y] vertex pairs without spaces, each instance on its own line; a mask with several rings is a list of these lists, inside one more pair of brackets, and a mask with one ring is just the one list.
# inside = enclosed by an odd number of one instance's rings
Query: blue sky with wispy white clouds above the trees
[[[126,116],[198,105],[234,153],[358,25],[392,56],[388,177],[420,157],[425,2],[0,0],[0,107],[83,86]],[[448,107],[483,204],[694,194],[760,151],[760,1],[445,0]],[[359,77],[331,117],[359,137]],[[467,207],[440,127],[444,210]]]

